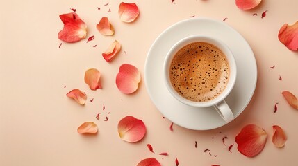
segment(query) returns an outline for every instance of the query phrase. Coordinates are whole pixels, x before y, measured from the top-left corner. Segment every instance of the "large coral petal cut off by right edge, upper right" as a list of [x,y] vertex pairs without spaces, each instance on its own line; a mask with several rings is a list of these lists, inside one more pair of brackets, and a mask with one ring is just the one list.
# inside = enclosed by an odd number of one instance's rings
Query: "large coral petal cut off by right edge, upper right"
[[289,50],[298,50],[298,21],[291,26],[283,24],[279,30],[279,41]]

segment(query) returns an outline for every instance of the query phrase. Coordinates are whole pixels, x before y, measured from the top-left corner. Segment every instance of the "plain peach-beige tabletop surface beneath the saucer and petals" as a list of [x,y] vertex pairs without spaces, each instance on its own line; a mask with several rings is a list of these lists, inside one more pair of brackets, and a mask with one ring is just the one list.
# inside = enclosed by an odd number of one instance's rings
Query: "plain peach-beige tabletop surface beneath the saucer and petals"
[[[281,92],[288,90],[298,96],[298,53],[283,46],[277,34],[283,24],[298,21],[298,1],[263,0],[258,8],[243,11],[233,0],[142,0],[135,1],[140,16],[133,24],[119,20],[120,2],[1,1],[0,165],[137,165],[149,157],[162,165],[175,165],[176,157],[180,165],[296,165],[298,111],[285,102]],[[63,28],[59,15],[72,12],[69,8],[76,8],[85,21],[88,37],[95,36],[92,42],[86,43],[86,38],[66,44],[58,39]],[[261,19],[265,10],[267,16]],[[217,20],[227,17],[226,24],[238,30],[254,50],[258,83],[247,109],[230,124],[211,131],[192,131],[174,124],[174,131],[170,131],[171,122],[149,99],[144,61],[152,42],[165,28],[193,15]],[[103,16],[115,27],[112,37],[102,36],[95,28]],[[108,64],[101,53],[114,39],[122,44],[122,51]],[[95,44],[97,47],[92,47]],[[115,75],[124,63],[133,64],[142,75],[139,89],[132,95],[120,93],[115,85]],[[88,68],[101,71],[102,90],[91,91],[84,83]],[[88,94],[83,107],[66,97],[75,88]],[[273,113],[276,102],[279,109]],[[99,120],[97,113],[101,113]],[[147,126],[141,142],[131,144],[118,136],[117,123],[128,115],[140,118]],[[96,136],[76,132],[85,121],[98,125]],[[268,133],[265,149],[255,158],[240,154],[235,144],[237,133],[250,123]],[[288,136],[282,149],[271,141],[274,124]],[[226,145],[235,144],[232,153],[222,143],[224,136],[228,137]],[[217,157],[204,153],[205,149]],[[169,156],[160,156],[160,152]]]

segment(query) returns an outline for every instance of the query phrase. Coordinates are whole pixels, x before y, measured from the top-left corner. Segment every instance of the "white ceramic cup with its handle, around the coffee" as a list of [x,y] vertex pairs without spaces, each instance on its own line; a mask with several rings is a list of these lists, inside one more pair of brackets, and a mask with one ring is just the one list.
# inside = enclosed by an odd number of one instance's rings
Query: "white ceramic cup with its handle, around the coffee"
[[[222,53],[224,53],[229,63],[229,80],[226,84],[226,87],[224,88],[222,93],[220,93],[220,95],[218,95],[216,98],[213,98],[212,100],[208,100],[204,102],[196,102],[196,101],[183,98],[183,96],[181,96],[174,89],[169,77],[170,66],[174,55],[176,55],[177,51],[183,48],[183,46],[186,46],[194,42],[205,42],[208,44],[212,44],[213,46],[216,46],[222,51]],[[215,107],[217,112],[220,114],[220,116],[222,116],[222,118],[226,122],[230,122],[234,118],[233,112],[231,111],[229,105],[225,102],[224,99],[226,98],[227,95],[229,95],[229,93],[233,89],[233,86],[236,80],[236,74],[237,74],[237,68],[236,68],[235,59],[233,57],[233,53],[231,53],[231,50],[228,48],[228,46],[226,46],[226,44],[221,42],[220,39],[216,39],[215,37],[210,37],[206,35],[192,35],[189,37],[185,37],[184,39],[181,39],[179,42],[174,44],[174,46],[172,46],[172,48],[168,51],[163,65],[163,75],[165,78],[165,84],[167,86],[169,93],[171,93],[174,96],[174,98],[176,98],[183,104],[187,104],[192,107]]]

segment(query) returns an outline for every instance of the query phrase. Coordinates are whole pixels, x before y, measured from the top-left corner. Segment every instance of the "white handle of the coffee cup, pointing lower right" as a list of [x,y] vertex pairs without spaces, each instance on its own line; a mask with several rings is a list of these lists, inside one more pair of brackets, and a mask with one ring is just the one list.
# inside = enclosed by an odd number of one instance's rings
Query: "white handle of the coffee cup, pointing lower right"
[[231,120],[233,120],[233,112],[231,111],[229,105],[226,104],[226,101],[222,100],[221,102],[215,104],[214,107],[216,111],[220,113],[220,116],[222,117],[222,119],[224,119],[224,121],[230,122]]

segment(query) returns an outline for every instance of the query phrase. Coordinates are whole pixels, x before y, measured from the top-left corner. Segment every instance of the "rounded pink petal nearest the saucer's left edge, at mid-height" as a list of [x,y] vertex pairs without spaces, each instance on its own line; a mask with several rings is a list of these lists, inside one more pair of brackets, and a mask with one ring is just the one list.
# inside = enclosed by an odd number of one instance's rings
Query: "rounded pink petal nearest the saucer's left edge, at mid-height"
[[116,76],[116,85],[122,93],[130,94],[138,89],[141,81],[138,68],[131,64],[122,64]]

